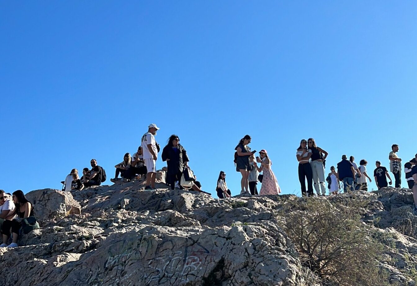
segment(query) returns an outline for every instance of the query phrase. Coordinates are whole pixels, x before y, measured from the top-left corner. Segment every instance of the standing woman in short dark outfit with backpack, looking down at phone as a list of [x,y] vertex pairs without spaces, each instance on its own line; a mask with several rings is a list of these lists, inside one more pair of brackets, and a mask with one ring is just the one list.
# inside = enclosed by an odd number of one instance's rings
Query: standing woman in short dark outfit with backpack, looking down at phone
[[242,179],[240,181],[241,194],[248,192],[248,178],[249,173],[251,172],[251,163],[249,162],[249,157],[255,153],[251,152],[251,148],[248,146],[249,143],[251,143],[251,137],[249,135],[245,135],[245,137],[240,139],[239,144],[235,148],[236,172],[240,172],[242,174]]

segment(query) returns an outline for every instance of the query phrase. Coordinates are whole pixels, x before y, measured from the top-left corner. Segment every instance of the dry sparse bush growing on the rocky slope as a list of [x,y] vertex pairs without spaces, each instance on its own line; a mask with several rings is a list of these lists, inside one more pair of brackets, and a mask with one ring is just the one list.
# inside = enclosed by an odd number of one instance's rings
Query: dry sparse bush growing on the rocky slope
[[378,267],[383,246],[360,221],[363,202],[345,199],[300,199],[281,210],[289,238],[302,263],[325,280],[341,286],[382,286],[387,274]]

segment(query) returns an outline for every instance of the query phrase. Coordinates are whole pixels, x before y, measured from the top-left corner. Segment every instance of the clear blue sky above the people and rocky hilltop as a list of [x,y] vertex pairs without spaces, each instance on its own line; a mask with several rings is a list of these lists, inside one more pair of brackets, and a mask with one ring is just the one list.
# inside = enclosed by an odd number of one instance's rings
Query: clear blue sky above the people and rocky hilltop
[[342,154],[388,167],[393,143],[409,160],[415,15],[415,1],[2,1],[0,189],[60,189],[91,158],[110,183],[150,123],[214,196],[220,170],[240,191],[245,134],[284,194],[300,193],[302,138],[329,152],[326,173]]

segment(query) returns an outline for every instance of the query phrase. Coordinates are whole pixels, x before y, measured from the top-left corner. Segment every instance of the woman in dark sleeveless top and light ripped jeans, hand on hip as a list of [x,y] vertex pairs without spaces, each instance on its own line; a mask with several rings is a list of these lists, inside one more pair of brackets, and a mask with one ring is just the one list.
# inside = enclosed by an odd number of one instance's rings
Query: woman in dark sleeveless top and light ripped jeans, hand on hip
[[[311,170],[313,171],[314,189],[317,196],[320,195],[320,188],[322,189],[322,196],[326,195],[326,184],[324,184],[324,164],[326,157],[329,153],[322,148],[317,147],[313,138],[309,138],[307,141],[308,149],[311,150]],[[324,157],[322,155],[324,154]],[[320,187],[319,187],[320,184]]]

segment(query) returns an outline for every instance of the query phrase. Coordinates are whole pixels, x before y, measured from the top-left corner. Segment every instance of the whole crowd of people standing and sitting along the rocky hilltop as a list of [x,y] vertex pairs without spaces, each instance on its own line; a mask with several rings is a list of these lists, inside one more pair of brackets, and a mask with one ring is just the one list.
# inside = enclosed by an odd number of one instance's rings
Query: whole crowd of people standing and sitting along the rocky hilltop
[[[137,152],[133,156],[130,153],[124,154],[123,161],[115,165],[115,177],[111,178],[111,182],[145,180],[144,190],[155,190],[156,162],[158,153],[161,151],[155,139],[158,130],[156,124],[148,126],[148,132],[143,134]],[[251,150],[250,143],[251,137],[245,135],[235,147],[234,163],[236,172],[241,174],[240,194],[251,196],[280,194],[281,189],[272,171],[272,160],[269,158],[268,152],[262,149],[258,152],[259,156],[255,156],[256,151]],[[396,188],[401,187],[402,172],[402,159],[398,157],[398,151],[399,146],[394,144],[388,156],[389,171],[393,174]],[[330,167],[330,173],[325,178],[324,170],[327,156],[328,152],[318,147],[313,138],[301,140],[296,150],[296,159],[299,163],[298,176],[302,196],[326,196],[326,183],[329,195],[339,194],[342,187],[344,192],[368,190],[368,181],[371,183],[372,179],[367,173],[368,162],[365,159],[360,160],[358,167],[354,156],[350,156],[348,160],[347,156],[343,155],[342,160],[337,163],[336,167]],[[169,137],[162,150],[161,159],[167,164],[162,169],[166,171],[166,184],[172,190],[186,189],[210,194],[201,189],[201,183],[196,180],[196,176],[188,166],[188,154],[180,144],[177,135],[173,134]],[[100,186],[105,182],[106,171],[98,165],[97,160],[91,159],[90,164],[91,169],[84,168],[81,178],[78,175],[78,170],[72,169],[65,181],[62,182],[63,190],[81,191],[86,187]],[[387,168],[383,167],[379,161],[375,162],[375,165],[373,177],[377,188],[381,189],[392,185],[392,179]],[[413,190],[414,205],[417,205],[417,154],[404,164],[404,173],[408,188]],[[259,192],[258,183],[261,183]],[[316,194],[314,194],[314,191]],[[216,193],[219,199],[231,197],[231,190],[227,187],[224,171],[219,173]],[[417,214],[416,206],[414,212]],[[28,218],[32,219],[28,220]],[[11,195],[0,190],[0,230],[3,236],[3,244],[0,247],[16,247],[18,237],[22,234],[23,224],[28,224],[28,221],[32,221],[31,225],[28,226],[30,231],[36,227],[33,224],[33,221],[35,221],[33,207],[26,199],[23,191],[18,190]],[[12,242],[8,244],[10,237]]]

